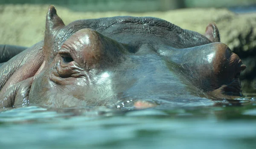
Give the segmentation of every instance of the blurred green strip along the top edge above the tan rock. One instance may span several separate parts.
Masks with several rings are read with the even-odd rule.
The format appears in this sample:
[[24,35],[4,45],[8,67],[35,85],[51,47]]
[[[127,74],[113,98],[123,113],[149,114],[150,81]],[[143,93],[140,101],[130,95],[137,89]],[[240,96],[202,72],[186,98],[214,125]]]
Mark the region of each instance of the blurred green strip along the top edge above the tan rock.
[[54,4],[74,11],[166,11],[186,7],[230,7],[256,0],[0,0],[0,4]]

